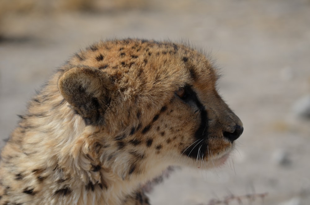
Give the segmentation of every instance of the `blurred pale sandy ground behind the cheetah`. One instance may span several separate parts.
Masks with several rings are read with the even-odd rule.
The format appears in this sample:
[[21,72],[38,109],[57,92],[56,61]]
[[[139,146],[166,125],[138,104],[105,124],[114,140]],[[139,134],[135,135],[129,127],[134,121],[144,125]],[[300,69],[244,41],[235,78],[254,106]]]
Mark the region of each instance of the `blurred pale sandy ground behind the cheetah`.
[[1,0],[0,137],[76,50],[126,37],[210,53],[245,129],[227,165],[176,170],[152,204],[310,204],[309,0]]

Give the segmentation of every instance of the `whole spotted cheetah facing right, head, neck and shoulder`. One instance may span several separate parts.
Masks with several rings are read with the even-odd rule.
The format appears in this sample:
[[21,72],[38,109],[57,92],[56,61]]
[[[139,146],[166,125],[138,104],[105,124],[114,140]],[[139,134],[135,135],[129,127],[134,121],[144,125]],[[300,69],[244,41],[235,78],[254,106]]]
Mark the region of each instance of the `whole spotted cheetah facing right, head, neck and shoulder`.
[[225,162],[241,120],[187,45],[107,40],[80,50],[29,102],[1,152],[0,204],[149,204],[169,166]]

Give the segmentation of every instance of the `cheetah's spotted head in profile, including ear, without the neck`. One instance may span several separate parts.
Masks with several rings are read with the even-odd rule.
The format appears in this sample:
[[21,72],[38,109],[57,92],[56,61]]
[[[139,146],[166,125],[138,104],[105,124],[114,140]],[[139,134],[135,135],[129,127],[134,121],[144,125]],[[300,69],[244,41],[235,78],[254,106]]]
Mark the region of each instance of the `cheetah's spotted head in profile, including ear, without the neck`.
[[59,90],[92,128],[85,152],[126,178],[223,164],[243,131],[205,55],[171,42],[105,41],[64,66]]

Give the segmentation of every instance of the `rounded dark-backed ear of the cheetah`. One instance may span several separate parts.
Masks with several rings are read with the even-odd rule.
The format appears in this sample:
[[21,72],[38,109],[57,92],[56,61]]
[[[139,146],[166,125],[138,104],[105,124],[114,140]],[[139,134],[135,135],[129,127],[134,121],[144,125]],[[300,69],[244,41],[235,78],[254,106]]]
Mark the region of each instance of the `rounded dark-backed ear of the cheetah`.
[[113,82],[106,72],[74,67],[60,77],[58,88],[86,124],[104,123],[104,113],[111,101],[113,89]]

